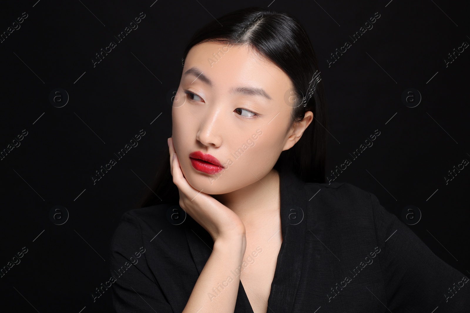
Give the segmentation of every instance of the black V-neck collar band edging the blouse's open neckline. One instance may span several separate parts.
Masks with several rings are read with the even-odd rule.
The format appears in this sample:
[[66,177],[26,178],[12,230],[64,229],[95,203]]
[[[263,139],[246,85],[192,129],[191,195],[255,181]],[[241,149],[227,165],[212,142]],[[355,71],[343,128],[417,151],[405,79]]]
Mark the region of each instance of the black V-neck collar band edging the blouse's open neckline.
[[[281,168],[279,170],[279,185],[283,240],[277,256],[267,306],[268,312],[276,312],[274,308],[282,308],[282,312],[291,312],[304,259],[307,201],[304,189],[305,183],[290,169]],[[191,216],[188,215],[187,218],[189,221],[187,227],[185,227],[186,237],[196,270],[200,275],[211,255],[214,242],[211,235]],[[237,303],[242,303],[244,307],[235,305],[235,313],[253,313],[241,281],[238,288]]]

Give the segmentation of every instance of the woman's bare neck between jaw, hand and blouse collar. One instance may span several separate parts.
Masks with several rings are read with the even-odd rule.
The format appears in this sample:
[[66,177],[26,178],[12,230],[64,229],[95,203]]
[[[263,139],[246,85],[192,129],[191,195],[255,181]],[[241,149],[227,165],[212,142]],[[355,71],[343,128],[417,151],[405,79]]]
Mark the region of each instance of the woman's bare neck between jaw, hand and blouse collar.
[[266,176],[238,190],[211,195],[234,211],[245,226],[266,220],[265,214],[280,210],[279,173],[274,168]]

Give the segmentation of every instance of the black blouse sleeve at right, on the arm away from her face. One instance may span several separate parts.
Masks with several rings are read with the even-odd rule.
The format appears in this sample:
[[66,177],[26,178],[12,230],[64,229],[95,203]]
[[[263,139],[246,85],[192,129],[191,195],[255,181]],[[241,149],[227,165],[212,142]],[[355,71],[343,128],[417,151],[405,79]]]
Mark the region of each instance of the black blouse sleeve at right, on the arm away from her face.
[[[470,282],[370,194],[388,310],[470,312]],[[388,311],[386,311],[388,312]]]

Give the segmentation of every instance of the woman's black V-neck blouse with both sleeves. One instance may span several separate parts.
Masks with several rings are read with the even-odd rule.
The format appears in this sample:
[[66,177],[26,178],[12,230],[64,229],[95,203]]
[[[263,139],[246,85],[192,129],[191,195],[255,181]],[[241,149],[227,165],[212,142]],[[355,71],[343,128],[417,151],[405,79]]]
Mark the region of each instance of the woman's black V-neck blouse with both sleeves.
[[[469,279],[372,193],[279,174],[283,241],[267,312],[470,312]],[[212,247],[179,206],[126,212],[110,244],[114,308],[182,312]],[[246,312],[253,310],[240,281],[235,313]]]

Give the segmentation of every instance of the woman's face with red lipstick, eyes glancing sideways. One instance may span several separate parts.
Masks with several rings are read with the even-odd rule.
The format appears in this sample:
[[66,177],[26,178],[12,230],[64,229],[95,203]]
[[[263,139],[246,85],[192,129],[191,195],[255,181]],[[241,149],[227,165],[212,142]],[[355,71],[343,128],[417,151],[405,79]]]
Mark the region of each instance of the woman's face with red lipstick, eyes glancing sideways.
[[[247,46],[194,46],[172,107],[173,145],[188,183],[224,194],[266,176],[312,120],[286,134],[290,89],[289,76]],[[194,152],[210,153],[223,169],[198,161],[197,153],[190,158]]]

